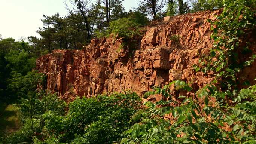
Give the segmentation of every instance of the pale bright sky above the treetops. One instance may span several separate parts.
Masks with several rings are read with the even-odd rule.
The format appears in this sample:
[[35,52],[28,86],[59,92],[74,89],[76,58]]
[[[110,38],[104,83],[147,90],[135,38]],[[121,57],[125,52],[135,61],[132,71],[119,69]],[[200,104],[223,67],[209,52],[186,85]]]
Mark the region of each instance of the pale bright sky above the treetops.
[[[43,27],[40,19],[44,15],[54,15],[59,12],[65,16],[64,0],[0,0],[0,34],[3,38],[12,37],[19,40],[21,37],[37,36],[38,27]],[[67,0],[68,1],[68,0]],[[137,0],[125,0],[125,11],[137,7]]]

